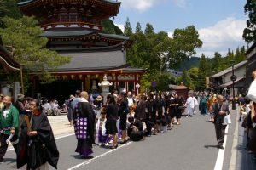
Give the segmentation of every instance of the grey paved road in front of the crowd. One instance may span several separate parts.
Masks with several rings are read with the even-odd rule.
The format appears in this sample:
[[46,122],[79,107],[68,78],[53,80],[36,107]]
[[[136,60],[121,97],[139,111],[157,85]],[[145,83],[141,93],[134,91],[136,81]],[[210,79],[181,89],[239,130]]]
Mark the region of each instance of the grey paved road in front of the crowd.
[[[183,117],[182,124],[176,125],[172,131],[146,138],[141,142],[129,142],[119,144],[117,150],[94,147],[94,158],[82,160],[74,152],[76,139],[72,129],[67,127],[66,116],[58,120],[55,117],[50,120],[54,131],[58,149],[60,150],[60,161],[58,169],[90,169],[90,170],[119,170],[119,169],[147,169],[147,170],[206,170],[214,169],[219,150],[216,148],[214,126],[208,122],[208,117],[199,116]],[[64,118],[63,118],[64,117]],[[230,169],[230,161],[236,153],[233,139],[236,133],[236,113],[232,112],[233,123],[229,126],[227,133],[227,144],[224,150],[223,169]],[[49,117],[51,119],[51,117]],[[54,122],[55,120],[55,122]],[[65,123],[63,123],[65,122]],[[55,123],[55,124],[54,124]],[[63,127],[58,127],[63,126]],[[62,131],[67,130],[65,137]],[[61,138],[61,136],[64,136]],[[221,163],[221,162],[220,162]],[[219,162],[218,162],[219,164]],[[232,162],[231,162],[232,164]],[[15,152],[9,150],[5,156],[5,163],[0,169],[15,169]],[[24,168],[26,169],[26,168]],[[50,169],[53,169],[50,167]],[[236,169],[236,168],[234,168]]]

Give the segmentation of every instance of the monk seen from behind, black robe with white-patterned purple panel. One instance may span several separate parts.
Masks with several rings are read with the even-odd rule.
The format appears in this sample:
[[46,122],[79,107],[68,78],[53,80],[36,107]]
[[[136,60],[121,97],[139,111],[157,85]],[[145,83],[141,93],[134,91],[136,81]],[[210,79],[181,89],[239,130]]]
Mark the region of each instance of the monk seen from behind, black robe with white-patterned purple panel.
[[96,115],[88,102],[87,92],[81,92],[81,99],[75,105],[73,120],[78,145],[76,152],[81,158],[92,158],[92,144],[96,137]]

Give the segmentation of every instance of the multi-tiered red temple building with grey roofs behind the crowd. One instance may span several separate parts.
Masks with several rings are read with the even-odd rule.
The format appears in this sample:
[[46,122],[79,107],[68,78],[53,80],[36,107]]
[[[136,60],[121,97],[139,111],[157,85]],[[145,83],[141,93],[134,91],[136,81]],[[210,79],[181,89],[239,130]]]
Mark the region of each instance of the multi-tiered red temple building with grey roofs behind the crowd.
[[103,76],[113,82],[110,90],[136,91],[136,84],[146,71],[126,64],[129,37],[102,33],[101,22],[119,13],[120,2],[112,0],[27,0],[18,3],[20,10],[34,15],[48,38],[47,48],[71,62],[52,71],[58,80],[42,85],[32,74],[32,92],[42,96],[74,94],[75,90],[100,93]]

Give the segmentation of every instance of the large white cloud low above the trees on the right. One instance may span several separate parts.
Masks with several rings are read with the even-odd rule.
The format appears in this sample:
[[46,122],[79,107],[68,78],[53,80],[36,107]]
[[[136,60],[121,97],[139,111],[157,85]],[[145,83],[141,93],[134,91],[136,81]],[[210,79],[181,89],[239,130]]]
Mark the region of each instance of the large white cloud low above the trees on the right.
[[235,51],[237,47],[245,45],[242,39],[242,31],[245,27],[246,20],[229,17],[218,21],[214,26],[199,29],[203,46],[197,50],[197,56],[201,57],[203,53],[212,58],[217,51],[224,56],[229,48]]

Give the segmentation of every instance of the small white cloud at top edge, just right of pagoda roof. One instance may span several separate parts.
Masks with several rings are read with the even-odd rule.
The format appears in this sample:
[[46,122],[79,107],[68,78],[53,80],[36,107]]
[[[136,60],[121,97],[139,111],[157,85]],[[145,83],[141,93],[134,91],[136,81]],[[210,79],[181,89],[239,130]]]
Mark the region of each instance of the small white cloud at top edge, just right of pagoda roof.
[[121,0],[122,4],[121,7],[123,8],[135,8],[139,12],[143,12],[148,8],[151,8],[156,3],[161,3],[166,0]]

